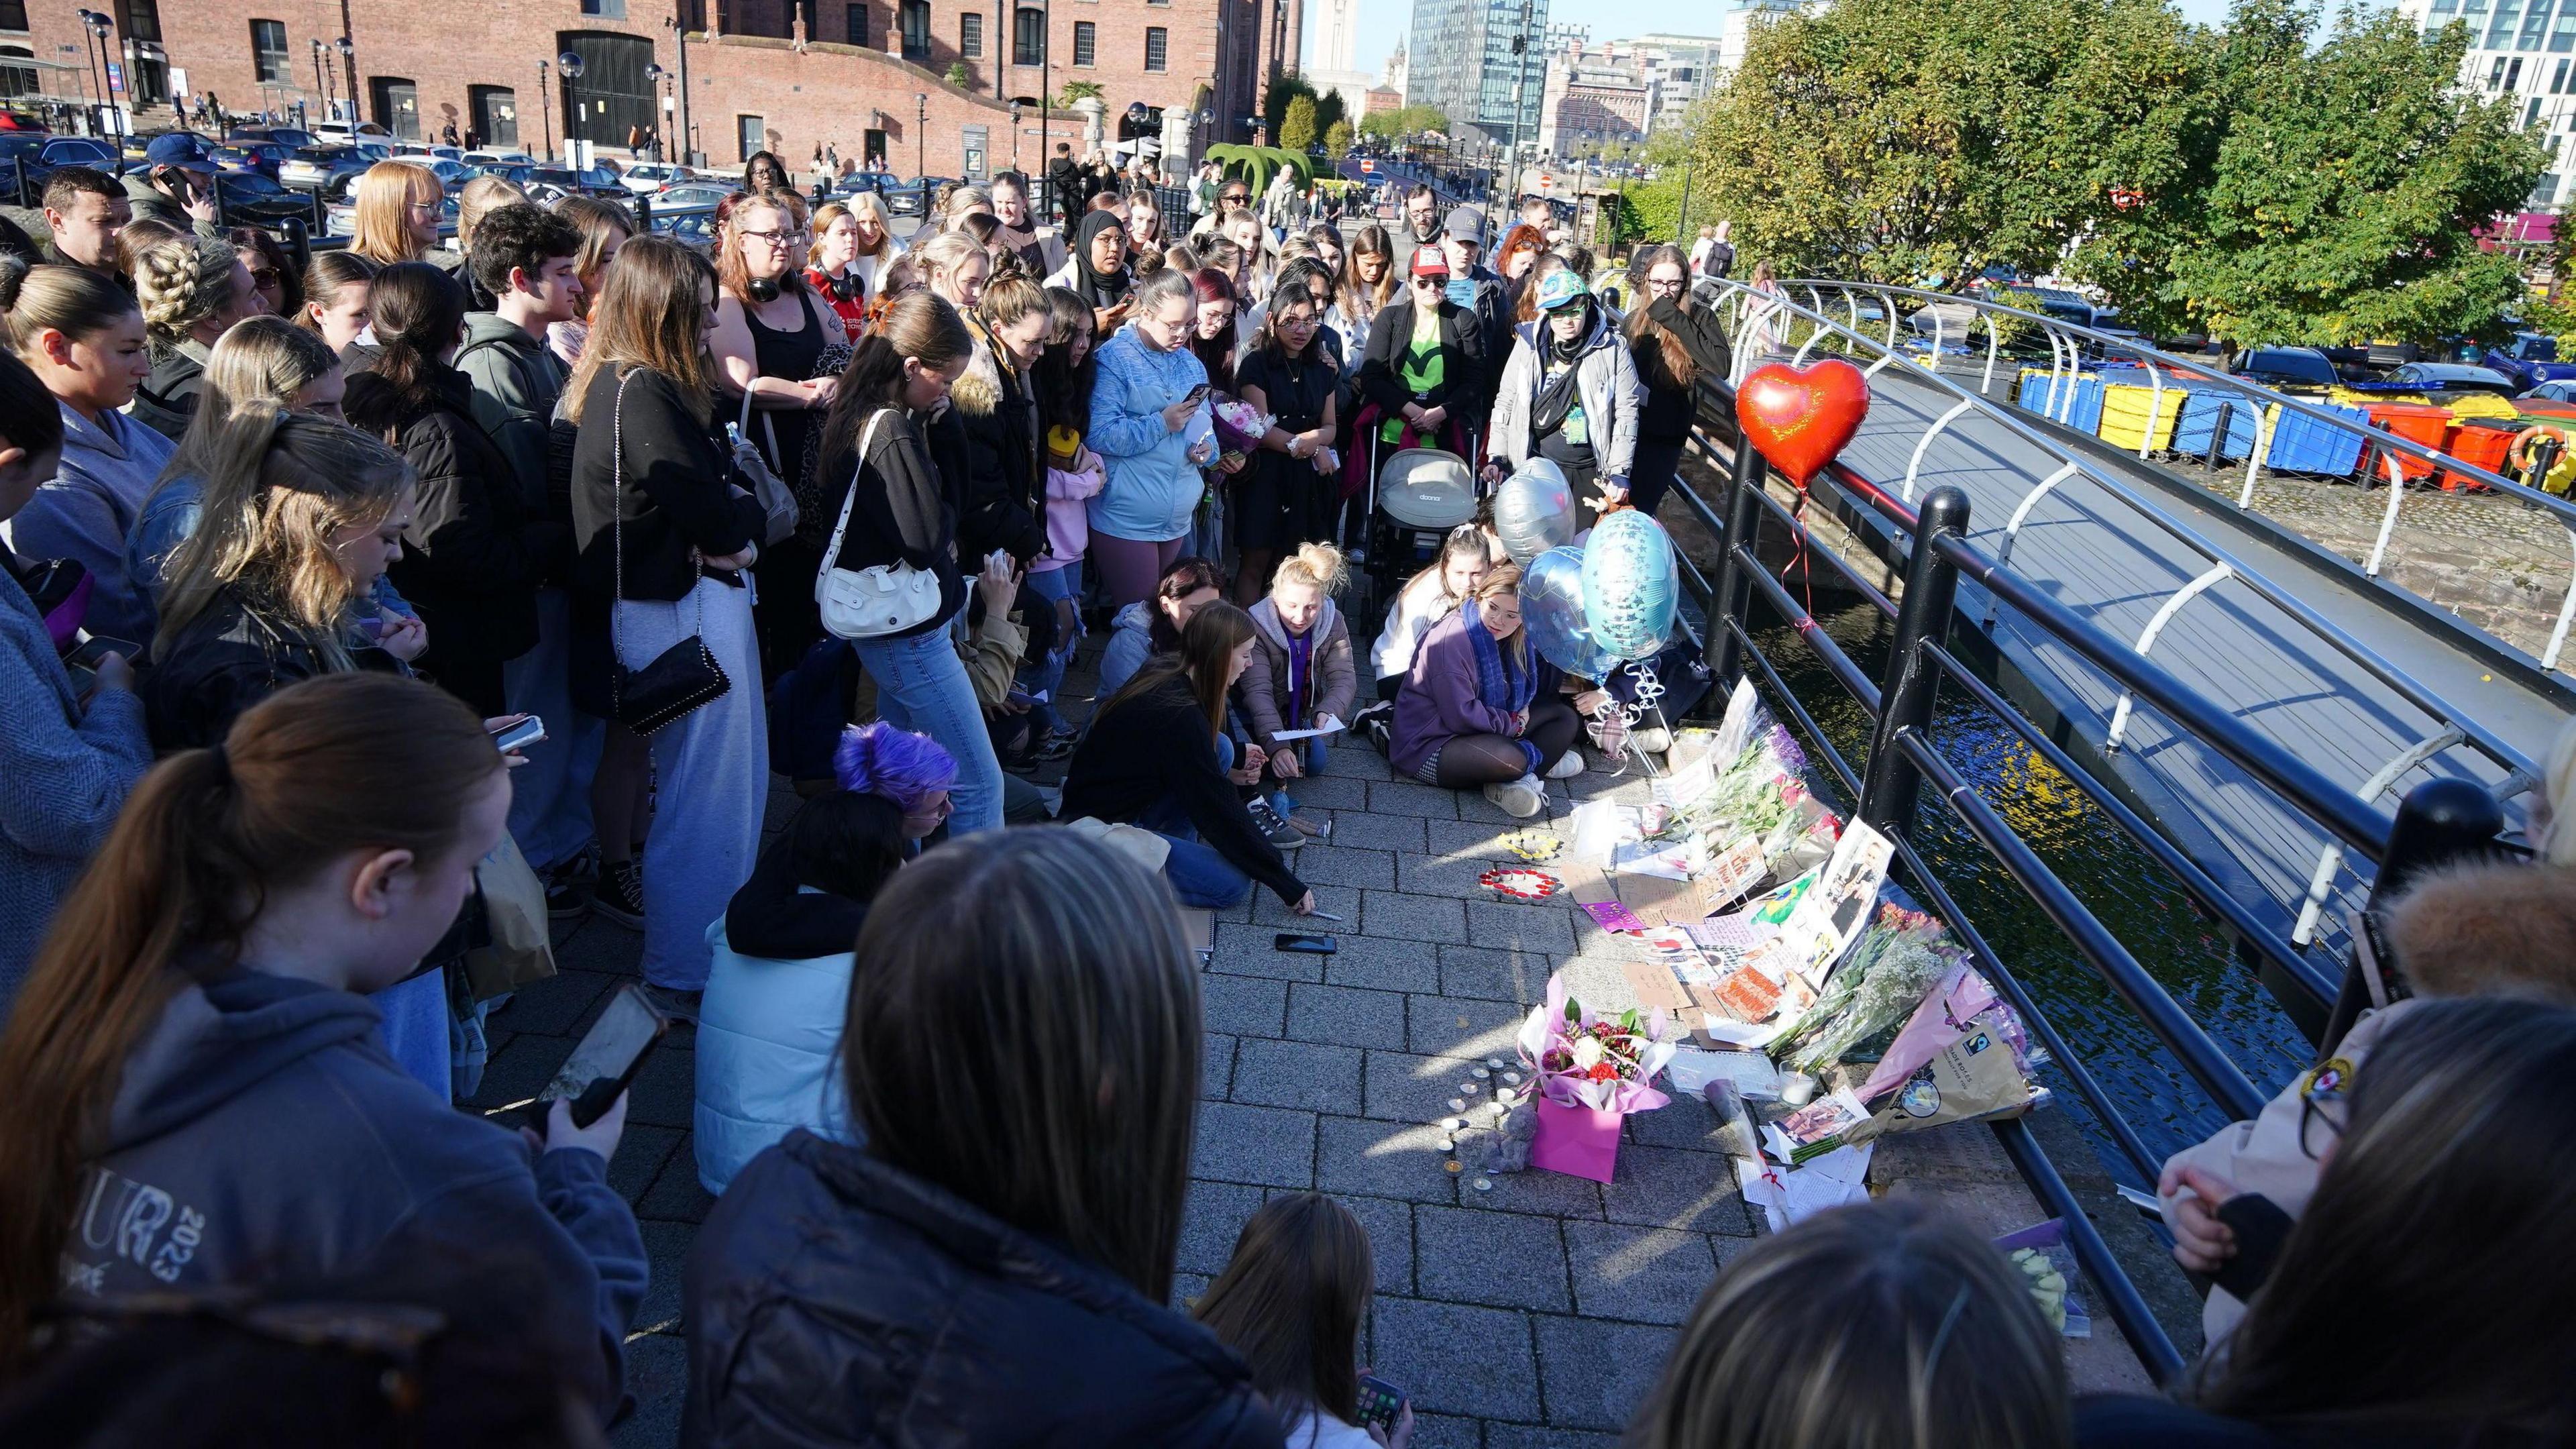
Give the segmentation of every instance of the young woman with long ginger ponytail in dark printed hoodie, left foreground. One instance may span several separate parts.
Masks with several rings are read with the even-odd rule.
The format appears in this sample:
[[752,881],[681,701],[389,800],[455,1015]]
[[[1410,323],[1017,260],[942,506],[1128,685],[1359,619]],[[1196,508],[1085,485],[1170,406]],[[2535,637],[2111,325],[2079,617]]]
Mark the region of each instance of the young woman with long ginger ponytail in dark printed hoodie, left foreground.
[[451,1111],[366,998],[448,931],[507,810],[474,712],[389,676],[286,688],[144,776],[0,1031],[0,1382],[64,1294],[507,1243],[544,1341],[618,1405],[647,1281],[608,1186],[623,1098],[544,1137]]

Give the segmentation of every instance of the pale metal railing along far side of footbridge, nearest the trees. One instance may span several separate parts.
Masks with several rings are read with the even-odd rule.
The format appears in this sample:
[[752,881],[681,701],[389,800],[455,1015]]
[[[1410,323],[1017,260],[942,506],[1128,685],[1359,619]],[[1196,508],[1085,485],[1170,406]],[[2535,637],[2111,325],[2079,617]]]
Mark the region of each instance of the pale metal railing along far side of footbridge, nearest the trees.
[[[2257,508],[2257,503],[2254,503],[2254,482],[2257,482],[2257,477],[2259,477],[2259,472],[2264,467],[2264,459],[2269,456],[2269,451],[2272,451],[2272,446],[2277,441],[2275,410],[2277,410],[2277,418],[2303,418],[2303,420],[2316,423],[2321,428],[2334,428],[2339,433],[2360,436],[2365,443],[2370,443],[2370,449],[2375,449],[2375,454],[2365,454],[2365,459],[2375,456],[2385,467],[2385,472],[2388,472],[2388,505],[2380,511],[2378,534],[2375,534],[2375,539],[2370,544],[2367,559],[2362,562],[2362,575],[2370,578],[2370,580],[2378,580],[2383,588],[2393,588],[2393,585],[2388,585],[2383,580],[2383,570],[2388,565],[2388,549],[2391,549],[2391,541],[2396,536],[2401,511],[2406,505],[2406,469],[2398,464],[2398,459],[2414,459],[2416,464],[2429,467],[2432,472],[2424,474],[2424,477],[2452,477],[2452,480],[2476,482],[2476,485],[2483,485],[2483,487],[2488,487],[2488,490],[2494,490],[2494,492],[2499,492],[2504,498],[2512,498],[2512,500],[2517,500],[2517,503],[2522,503],[2527,508],[2537,508],[2537,511],[2548,513],[2561,529],[2566,529],[2568,544],[2571,544],[2571,549],[2576,549],[2576,503],[2571,503],[2566,498],[2555,498],[2550,492],[2530,487],[2527,482],[2522,482],[2517,477],[2506,477],[2506,474],[2483,469],[2478,464],[2463,462],[2463,459],[2458,459],[2452,454],[2445,454],[2439,449],[2427,449],[2424,443],[2419,443],[2414,438],[2403,438],[2398,433],[2391,433],[2391,431],[2385,431],[2385,428],[2380,428],[2375,423],[2349,418],[2349,415],[2336,413],[2331,407],[2318,407],[2316,402],[2308,402],[2308,400],[2300,400],[2300,397],[2290,397],[2285,392],[2275,392],[2269,387],[2262,387],[2257,382],[2246,382],[2246,379],[2241,379],[2236,374],[2221,371],[2215,366],[2208,366],[2208,364],[2200,364],[2200,361],[2192,361],[2192,358],[2164,353],[2159,348],[2146,345],[2138,338],[2125,338],[2125,335],[2105,333],[2105,330],[2097,330],[2097,327],[2084,327],[2084,325],[2076,325],[2076,322],[2066,322],[2061,317],[2048,317],[2043,312],[2025,312],[2020,307],[2007,307],[2002,302],[1986,302],[1981,297],[1958,297],[1958,294],[1947,294],[1947,291],[1924,291],[1919,286],[1891,286],[1891,284],[1875,284],[1875,281],[1824,281],[1824,278],[1814,278],[1814,281],[1801,278],[1801,281],[1788,281],[1783,286],[1790,289],[1793,294],[1795,291],[1806,291],[1816,302],[1819,312],[1826,309],[1824,307],[1824,294],[1829,294],[1829,291],[1837,294],[1837,297],[1842,297],[1850,307],[1857,307],[1860,297],[1875,299],[1880,304],[1883,315],[1886,315],[1886,322],[1888,322],[1888,348],[1899,348],[1899,343],[1896,343],[1899,309],[1906,302],[1917,304],[1919,312],[1929,312],[1929,317],[1932,317],[1932,338],[1929,338],[1929,348],[1932,348],[1932,358],[1929,361],[1932,361],[1932,366],[1927,371],[1937,371],[1940,358],[1947,351],[1947,317],[1942,315],[1942,309],[1965,307],[1971,312],[1971,325],[1963,330],[1963,335],[1958,338],[1958,343],[1965,345],[1965,348],[1971,348],[1971,353],[1973,353],[1973,320],[1984,320],[1986,322],[1986,371],[1984,371],[1984,376],[1978,382],[1978,392],[1981,394],[1991,392],[1991,387],[1994,387],[1994,366],[1996,366],[1996,356],[2002,351],[1999,348],[1999,325],[2009,322],[2017,330],[2020,327],[2035,327],[2043,335],[2043,340],[2048,343],[2048,392],[2043,397],[2040,413],[2045,418],[2056,420],[2056,423],[2066,423],[2069,413],[2074,410],[2074,402],[2076,402],[2076,387],[2074,384],[2076,384],[2076,374],[2081,371],[2081,364],[2084,364],[2087,356],[2097,356],[2097,358],[2099,356],[2123,356],[2123,358],[2138,361],[2138,364],[2146,366],[2146,374],[2148,374],[2148,415],[2146,415],[2148,423],[2146,423],[2143,436],[2138,441],[2138,459],[2141,462],[2148,459],[2148,454],[2154,449],[2156,431],[2164,425],[2164,418],[2166,418],[2166,413],[2164,413],[2164,392],[2166,392],[2164,374],[2166,371],[2190,376],[2195,382],[2195,387],[2218,387],[2218,389],[2226,389],[2228,394],[2241,397],[2249,405],[2251,420],[2254,420],[2254,441],[2251,441],[2251,449],[2246,451],[2244,485],[2236,492],[2236,508],[2244,511],[2244,513],[2257,513],[2257,516],[2262,513],[2262,508]],[[1911,320],[1909,320],[1909,325],[1911,325]],[[1922,340],[1922,327],[1914,327],[1914,335]],[[2177,420],[2179,420],[2179,405],[2177,405]],[[2221,418],[2218,428],[2215,428],[2215,438],[2213,438],[2213,454],[2223,446],[2223,441],[2228,436],[2228,428],[2231,428],[2231,420]],[[2367,474],[2365,474],[2365,482],[2367,482]],[[2298,531],[2293,523],[2282,523],[2282,526],[2290,529],[2293,534]],[[2537,660],[2543,670],[2561,668],[2561,660],[2566,657],[2566,645],[2568,645],[2571,627],[2576,627],[2576,567],[2571,567],[2568,588],[2561,596],[2558,616],[2555,616],[2555,621],[2550,627],[2550,639],[2543,647],[2540,660]],[[2512,647],[2512,645],[2504,645],[2504,647]]]

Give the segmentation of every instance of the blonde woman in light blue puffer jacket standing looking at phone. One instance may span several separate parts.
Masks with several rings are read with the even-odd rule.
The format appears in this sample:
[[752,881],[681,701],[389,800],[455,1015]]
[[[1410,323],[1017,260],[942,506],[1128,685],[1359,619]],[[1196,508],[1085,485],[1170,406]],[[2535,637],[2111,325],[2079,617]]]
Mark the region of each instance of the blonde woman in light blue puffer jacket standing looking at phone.
[[1090,446],[1108,485],[1090,500],[1092,559],[1113,608],[1141,603],[1180,557],[1216,459],[1208,369],[1190,353],[1198,289],[1159,271],[1136,291],[1136,322],[1100,348]]

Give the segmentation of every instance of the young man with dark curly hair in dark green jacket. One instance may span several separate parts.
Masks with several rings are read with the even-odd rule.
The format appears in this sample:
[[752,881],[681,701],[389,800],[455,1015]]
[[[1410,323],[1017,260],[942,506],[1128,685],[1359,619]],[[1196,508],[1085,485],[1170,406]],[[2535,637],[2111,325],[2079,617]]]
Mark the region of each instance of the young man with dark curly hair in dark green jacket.
[[[582,235],[572,222],[526,201],[487,211],[466,250],[466,266],[495,307],[466,315],[456,366],[474,384],[474,420],[510,459],[528,518],[572,518],[572,503],[556,495],[551,467],[554,405],[564,394],[567,371],[546,348],[546,327],[582,315],[582,278],[574,271],[580,250]],[[569,459],[572,425],[562,428]],[[564,485],[569,487],[569,474]],[[536,647],[502,665],[510,709],[546,722],[546,737],[526,748],[528,766],[510,779],[510,835],[546,879],[546,908],[556,920],[592,905],[577,877],[590,843],[590,773],[603,737],[600,719],[572,709],[569,575],[569,557],[549,570],[536,590]]]

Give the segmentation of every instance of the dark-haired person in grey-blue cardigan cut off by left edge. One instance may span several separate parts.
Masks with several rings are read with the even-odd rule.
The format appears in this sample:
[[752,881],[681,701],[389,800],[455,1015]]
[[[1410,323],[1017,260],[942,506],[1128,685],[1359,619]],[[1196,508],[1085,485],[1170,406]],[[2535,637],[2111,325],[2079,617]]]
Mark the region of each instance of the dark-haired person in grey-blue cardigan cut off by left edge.
[[[0,353],[0,523],[26,508],[62,451],[44,384]],[[93,670],[88,699],[62,668],[46,614],[0,549],[0,1016],[36,957],[54,902],[108,838],[152,763],[144,706],[124,657]],[[67,629],[67,624],[64,624]]]

